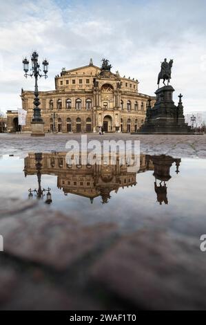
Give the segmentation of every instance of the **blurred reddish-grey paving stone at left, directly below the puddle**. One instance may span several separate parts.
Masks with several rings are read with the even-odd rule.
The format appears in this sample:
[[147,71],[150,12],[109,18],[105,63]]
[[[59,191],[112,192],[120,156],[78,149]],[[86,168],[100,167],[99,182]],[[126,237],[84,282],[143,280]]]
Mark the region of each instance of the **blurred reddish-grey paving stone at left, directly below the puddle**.
[[64,270],[85,254],[99,250],[115,232],[115,225],[83,226],[59,212],[39,210],[39,206],[0,219],[7,254],[56,270]]

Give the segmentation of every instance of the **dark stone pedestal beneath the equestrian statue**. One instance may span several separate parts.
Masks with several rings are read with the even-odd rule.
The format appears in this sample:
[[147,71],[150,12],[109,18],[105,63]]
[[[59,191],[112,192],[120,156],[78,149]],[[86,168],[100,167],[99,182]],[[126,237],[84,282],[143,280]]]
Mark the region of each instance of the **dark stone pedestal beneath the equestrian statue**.
[[174,88],[163,86],[157,89],[154,107],[148,107],[145,123],[138,133],[158,134],[187,134],[192,133],[191,127],[185,123],[183,104],[180,100],[178,106],[173,101]]

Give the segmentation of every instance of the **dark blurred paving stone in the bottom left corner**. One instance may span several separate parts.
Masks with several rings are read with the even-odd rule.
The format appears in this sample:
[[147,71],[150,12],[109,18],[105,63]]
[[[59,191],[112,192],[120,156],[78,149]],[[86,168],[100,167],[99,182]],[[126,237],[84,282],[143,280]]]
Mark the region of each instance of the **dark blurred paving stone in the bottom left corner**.
[[[48,281],[48,276],[39,270],[34,272],[12,269],[4,266],[0,268],[0,310],[99,310],[101,305],[83,293],[75,293],[69,288]],[[17,261],[14,263],[17,268]],[[17,268],[18,269],[18,268]]]

